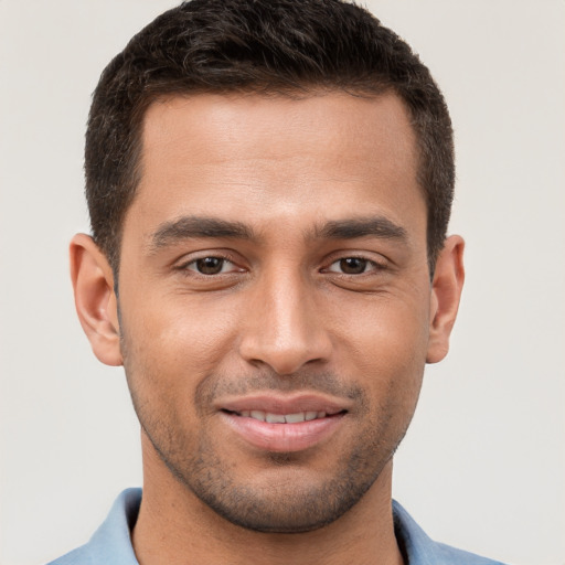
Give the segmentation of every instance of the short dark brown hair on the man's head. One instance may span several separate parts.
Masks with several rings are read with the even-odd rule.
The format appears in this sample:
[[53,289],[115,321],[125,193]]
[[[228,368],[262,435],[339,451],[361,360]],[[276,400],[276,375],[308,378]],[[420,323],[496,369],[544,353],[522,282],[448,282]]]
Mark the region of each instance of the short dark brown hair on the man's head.
[[158,17],[105,68],[86,132],[93,237],[117,274],[124,217],[139,180],[141,126],[164,95],[338,89],[394,92],[417,136],[433,271],[455,183],[449,113],[428,68],[366,10],[341,0],[192,0]]

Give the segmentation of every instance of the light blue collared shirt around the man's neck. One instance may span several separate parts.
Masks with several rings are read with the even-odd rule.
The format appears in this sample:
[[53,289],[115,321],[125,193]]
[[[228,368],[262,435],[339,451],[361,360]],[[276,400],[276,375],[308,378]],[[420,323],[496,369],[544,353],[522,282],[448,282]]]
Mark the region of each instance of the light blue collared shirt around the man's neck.
[[[127,489],[114,502],[108,518],[85,545],[49,565],[139,565],[131,547],[141,489]],[[502,565],[430,540],[401,504],[393,501],[396,540],[406,565]]]

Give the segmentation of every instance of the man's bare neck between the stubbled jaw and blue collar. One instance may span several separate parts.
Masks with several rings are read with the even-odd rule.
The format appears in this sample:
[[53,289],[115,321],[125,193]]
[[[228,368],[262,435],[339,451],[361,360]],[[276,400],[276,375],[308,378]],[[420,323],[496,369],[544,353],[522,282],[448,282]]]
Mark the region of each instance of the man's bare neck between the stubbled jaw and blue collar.
[[[145,446],[146,447],[146,446]],[[271,534],[234,525],[174,479],[143,448],[143,498],[132,532],[140,565],[402,565],[392,515],[392,461],[351,510],[307,533]]]

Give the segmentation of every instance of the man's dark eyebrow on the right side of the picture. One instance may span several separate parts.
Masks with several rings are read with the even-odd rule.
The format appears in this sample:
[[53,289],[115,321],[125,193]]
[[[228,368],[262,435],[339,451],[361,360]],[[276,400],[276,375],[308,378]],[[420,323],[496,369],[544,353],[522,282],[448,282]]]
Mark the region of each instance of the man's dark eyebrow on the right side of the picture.
[[404,227],[383,216],[332,220],[315,232],[316,238],[354,239],[367,236],[383,239],[407,239]]

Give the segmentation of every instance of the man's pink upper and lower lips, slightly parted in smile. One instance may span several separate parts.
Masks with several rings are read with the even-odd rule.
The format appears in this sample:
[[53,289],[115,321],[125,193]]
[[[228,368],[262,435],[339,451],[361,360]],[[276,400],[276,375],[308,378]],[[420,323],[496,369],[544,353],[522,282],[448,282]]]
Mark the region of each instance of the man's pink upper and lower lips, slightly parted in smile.
[[[349,402],[317,394],[255,395],[225,399],[218,404],[218,412],[237,436],[252,447],[264,451],[296,452],[312,448],[335,434],[343,424],[348,406]],[[273,414],[324,412],[327,416],[294,424],[270,424],[242,416],[245,411]]]

